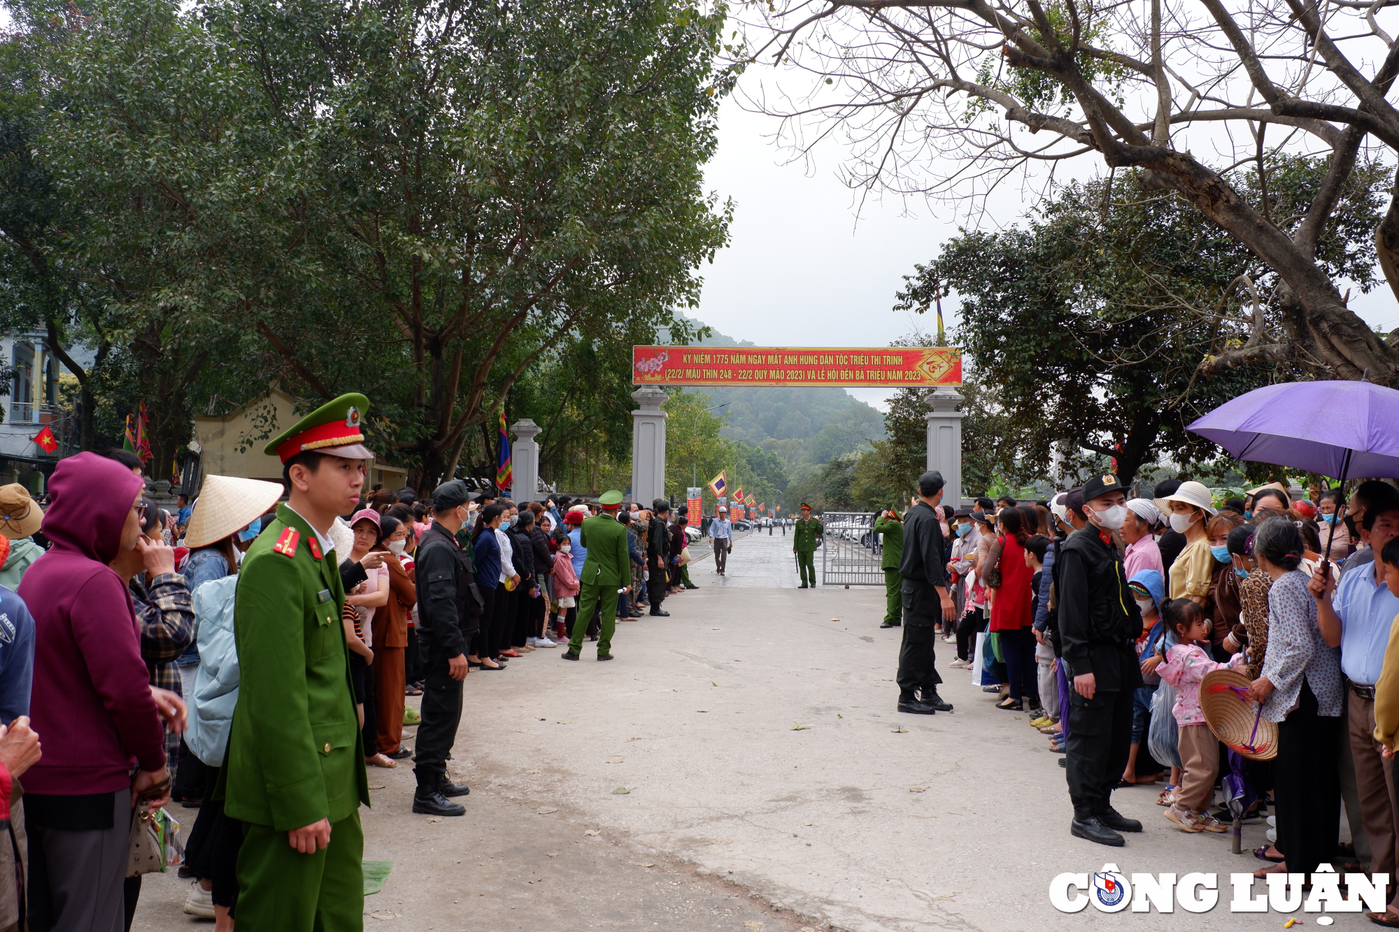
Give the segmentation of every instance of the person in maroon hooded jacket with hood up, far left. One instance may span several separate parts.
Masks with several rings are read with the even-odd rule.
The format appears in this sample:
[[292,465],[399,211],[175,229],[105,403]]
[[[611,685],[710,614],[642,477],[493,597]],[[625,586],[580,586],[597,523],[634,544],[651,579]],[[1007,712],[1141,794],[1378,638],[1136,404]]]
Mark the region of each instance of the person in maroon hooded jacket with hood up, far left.
[[140,630],[108,567],[139,546],[141,488],[97,453],[62,460],[45,514],[53,547],[20,584],[35,621],[31,718],[46,739],[24,778],[34,932],[120,932],[133,800],[169,796]]

